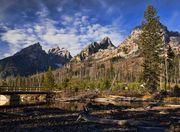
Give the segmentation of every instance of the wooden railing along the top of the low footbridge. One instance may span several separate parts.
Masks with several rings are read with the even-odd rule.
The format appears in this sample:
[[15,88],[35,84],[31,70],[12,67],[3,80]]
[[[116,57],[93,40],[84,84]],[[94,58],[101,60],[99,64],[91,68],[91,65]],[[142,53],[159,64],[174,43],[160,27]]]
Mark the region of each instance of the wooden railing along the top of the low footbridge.
[[44,87],[13,87],[0,86],[0,92],[47,92],[50,91]]

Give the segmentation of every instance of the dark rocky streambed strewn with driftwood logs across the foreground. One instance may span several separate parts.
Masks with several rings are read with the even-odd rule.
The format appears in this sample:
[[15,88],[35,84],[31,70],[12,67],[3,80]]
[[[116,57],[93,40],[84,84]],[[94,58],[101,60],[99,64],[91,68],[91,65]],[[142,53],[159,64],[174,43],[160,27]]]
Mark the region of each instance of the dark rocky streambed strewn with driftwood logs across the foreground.
[[179,105],[137,100],[135,103],[129,100],[130,98],[122,101],[114,96],[88,98],[83,95],[79,98],[79,95],[75,95],[69,100],[66,99],[68,98],[63,97],[59,101],[56,99],[39,106],[1,109],[0,130],[63,132],[179,132],[180,130]]

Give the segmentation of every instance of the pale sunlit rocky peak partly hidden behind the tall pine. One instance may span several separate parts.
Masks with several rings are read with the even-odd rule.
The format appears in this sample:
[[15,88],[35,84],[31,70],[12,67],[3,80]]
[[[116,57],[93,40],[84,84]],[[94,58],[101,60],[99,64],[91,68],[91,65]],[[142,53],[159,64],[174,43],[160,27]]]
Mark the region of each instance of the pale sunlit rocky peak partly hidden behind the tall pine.
[[[180,54],[180,33],[168,31],[167,27],[161,25],[165,43],[169,44],[176,54]],[[119,52],[123,52],[128,57],[139,56],[139,37],[142,33],[141,27],[136,27],[131,34],[117,47]]]

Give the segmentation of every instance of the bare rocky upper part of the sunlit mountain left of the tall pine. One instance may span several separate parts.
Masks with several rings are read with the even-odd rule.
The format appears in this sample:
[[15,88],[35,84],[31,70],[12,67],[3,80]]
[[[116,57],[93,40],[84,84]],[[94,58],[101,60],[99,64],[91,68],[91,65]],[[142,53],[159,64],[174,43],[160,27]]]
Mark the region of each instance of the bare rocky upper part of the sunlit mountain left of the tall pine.
[[100,43],[93,42],[85,47],[80,54],[71,59],[71,62],[82,62],[86,60],[107,61],[138,57],[138,41],[141,29],[134,29],[118,47],[115,47],[110,38],[105,37]]

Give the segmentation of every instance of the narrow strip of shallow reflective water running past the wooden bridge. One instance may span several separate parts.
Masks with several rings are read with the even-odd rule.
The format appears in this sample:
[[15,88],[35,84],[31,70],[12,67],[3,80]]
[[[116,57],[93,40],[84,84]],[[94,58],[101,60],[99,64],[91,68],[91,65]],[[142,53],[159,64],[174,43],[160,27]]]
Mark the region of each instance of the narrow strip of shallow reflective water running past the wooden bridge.
[[[0,100],[0,102],[2,102]],[[44,100],[30,100],[30,101],[21,101],[17,103],[6,102],[4,105],[0,106],[0,112],[19,112],[24,108],[57,108],[65,111],[82,111],[84,107],[88,107],[91,110],[110,110],[110,109],[119,109],[119,108],[138,108],[146,106],[149,103],[138,103],[138,102],[124,102],[121,101],[118,106],[112,104],[96,104],[91,102],[81,102],[81,101],[71,101],[71,102],[61,102],[61,101],[51,101],[47,102]]]

